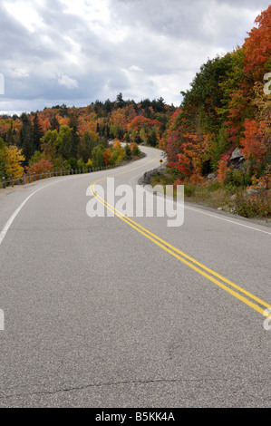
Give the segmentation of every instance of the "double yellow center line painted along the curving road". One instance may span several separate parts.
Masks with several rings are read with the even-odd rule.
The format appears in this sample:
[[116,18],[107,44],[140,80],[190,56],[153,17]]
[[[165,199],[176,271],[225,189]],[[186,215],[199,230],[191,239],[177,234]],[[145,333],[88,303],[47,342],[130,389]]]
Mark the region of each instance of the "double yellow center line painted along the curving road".
[[[151,161],[156,160],[157,157],[153,160],[150,160],[149,163]],[[148,164],[148,163],[145,163],[144,166],[146,164]],[[140,167],[143,167],[143,166],[140,166]],[[137,168],[134,168],[134,169],[140,169],[140,167],[137,167]],[[134,169],[129,169],[128,171],[131,171],[131,170],[134,170]],[[128,171],[122,171],[121,173],[117,173],[113,176],[119,176],[123,173],[127,173]],[[182,262],[186,266],[189,266],[191,269],[198,272],[198,274],[200,274],[201,276],[205,276],[206,278],[208,278],[209,281],[216,284],[220,288],[223,288],[223,290],[227,291],[227,293],[235,296],[238,300],[240,300],[243,303],[245,303],[246,305],[250,306],[252,309],[254,309],[259,314],[271,317],[271,315],[266,314],[266,309],[271,310],[271,305],[267,304],[265,301],[261,300],[259,297],[256,297],[256,295],[249,293],[244,288],[237,286],[237,284],[228,280],[224,276],[221,276],[220,274],[218,274],[218,272],[215,272],[212,269],[210,269],[209,267],[204,266],[203,264],[198,262],[198,260],[194,259],[193,257],[190,257],[189,255],[187,255],[183,251],[179,250],[179,248],[172,246],[171,244],[169,244],[164,239],[162,239],[162,238],[158,237],[157,235],[153,234],[152,232],[150,232],[148,229],[143,228],[142,226],[140,226],[140,224],[138,224],[137,222],[135,222],[131,218],[128,218],[126,215],[123,215],[119,210],[117,210],[116,208],[111,206],[109,203],[107,203],[107,201],[102,199],[97,194],[97,192],[95,191],[94,186],[97,182],[99,182],[103,179],[107,179],[107,178],[108,177],[106,176],[102,179],[97,179],[97,180],[93,181],[92,184],[91,184],[92,195],[95,198],[97,198],[97,200],[99,202],[101,202],[102,205],[105,208],[108,208],[109,210],[111,210],[111,212],[113,212],[114,215],[117,218],[120,218],[121,220],[123,220],[123,222],[127,223],[131,228],[138,231],[144,237],[150,239],[150,241],[152,243],[156,244],[157,246],[159,246],[160,248],[165,250],[167,253],[169,253],[169,255],[176,257],[180,262]]]

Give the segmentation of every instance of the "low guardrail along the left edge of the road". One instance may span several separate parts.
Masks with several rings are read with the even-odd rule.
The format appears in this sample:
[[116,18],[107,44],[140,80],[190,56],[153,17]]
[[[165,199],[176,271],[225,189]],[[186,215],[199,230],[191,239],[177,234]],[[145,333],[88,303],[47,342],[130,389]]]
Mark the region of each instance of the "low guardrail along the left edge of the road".
[[93,167],[93,168],[84,168],[84,169],[54,169],[38,173],[24,173],[20,178],[14,178],[10,175],[9,179],[3,177],[0,180],[0,189],[5,189],[6,187],[14,187],[15,185],[25,185],[26,183],[35,182],[36,180],[49,179],[55,176],[68,176],[68,175],[77,175],[84,173],[92,173],[93,171],[100,171],[106,169],[114,169],[119,167],[121,164],[114,164],[102,167]]

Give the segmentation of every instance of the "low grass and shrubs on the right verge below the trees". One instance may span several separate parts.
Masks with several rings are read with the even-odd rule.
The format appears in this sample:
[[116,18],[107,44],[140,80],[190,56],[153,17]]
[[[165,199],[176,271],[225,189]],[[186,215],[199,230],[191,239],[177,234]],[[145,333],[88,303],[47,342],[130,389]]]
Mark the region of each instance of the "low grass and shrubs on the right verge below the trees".
[[[153,176],[152,186],[174,185],[176,179],[165,172]],[[175,192],[176,194],[176,192]],[[271,223],[271,191],[260,189],[249,194],[247,188],[234,185],[222,185],[217,180],[206,181],[204,185],[186,183],[184,185],[185,201],[224,210],[244,218],[259,218]]]

